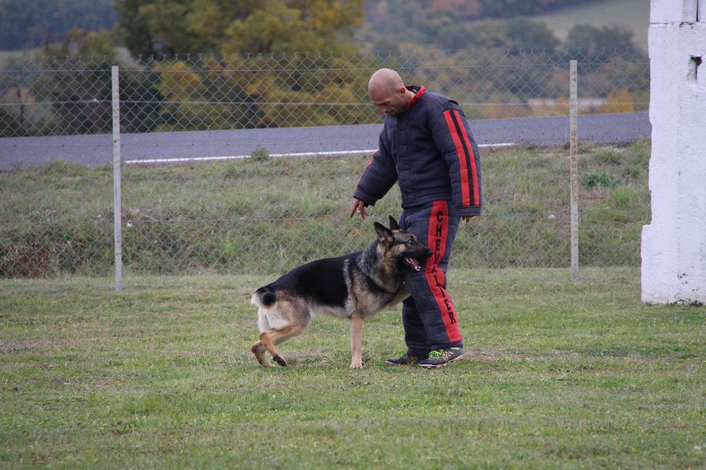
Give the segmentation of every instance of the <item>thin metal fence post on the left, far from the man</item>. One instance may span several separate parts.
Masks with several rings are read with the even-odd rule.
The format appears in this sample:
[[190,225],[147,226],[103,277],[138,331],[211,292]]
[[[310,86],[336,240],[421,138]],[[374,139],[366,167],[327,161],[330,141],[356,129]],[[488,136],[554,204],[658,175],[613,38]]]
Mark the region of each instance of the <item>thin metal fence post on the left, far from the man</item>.
[[115,243],[115,290],[123,290],[123,236],[120,159],[120,88],[118,66],[112,66],[113,89],[113,230]]

